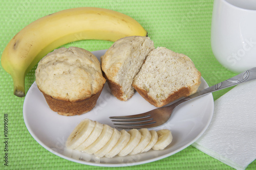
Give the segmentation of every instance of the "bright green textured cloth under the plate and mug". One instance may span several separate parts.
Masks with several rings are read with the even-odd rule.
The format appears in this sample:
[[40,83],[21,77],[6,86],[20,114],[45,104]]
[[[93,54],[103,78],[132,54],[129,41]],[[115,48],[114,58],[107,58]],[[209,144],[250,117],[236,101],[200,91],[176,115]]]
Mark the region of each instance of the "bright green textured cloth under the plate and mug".
[[[101,7],[127,14],[148,31],[155,46],[165,46],[175,52],[189,56],[201,71],[208,85],[214,85],[234,74],[223,68],[215,59],[210,47],[210,26],[213,1],[88,1],[46,0],[13,1],[1,0],[0,52],[9,40],[30,22],[68,8]],[[78,46],[89,51],[109,48],[113,42],[87,40],[65,44]],[[35,68],[26,77],[26,91],[35,80]],[[218,99],[227,92],[215,92]],[[23,119],[24,98],[13,95],[12,79],[0,66],[0,169],[131,169],[131,167],[97,167],[83,165],[60,158],[47,151],[28,132]],[[8,114],[8,167],[4,165],[4,114]],[[247,169],[255,169],[256,161]],[[233,169],[230,166],[188,147],[162,160],[133,166],[134,169]]]

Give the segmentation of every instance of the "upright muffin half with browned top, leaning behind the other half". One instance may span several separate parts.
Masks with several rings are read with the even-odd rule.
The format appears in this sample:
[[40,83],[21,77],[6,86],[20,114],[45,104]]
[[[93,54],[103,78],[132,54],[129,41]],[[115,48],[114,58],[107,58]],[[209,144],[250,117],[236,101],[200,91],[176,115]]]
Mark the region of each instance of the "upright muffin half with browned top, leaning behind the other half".
[[126,101],[133,96],[133,79],[153,49],[149,37],[130,36],[117,40],[101,57],[103,75],[117,99]]

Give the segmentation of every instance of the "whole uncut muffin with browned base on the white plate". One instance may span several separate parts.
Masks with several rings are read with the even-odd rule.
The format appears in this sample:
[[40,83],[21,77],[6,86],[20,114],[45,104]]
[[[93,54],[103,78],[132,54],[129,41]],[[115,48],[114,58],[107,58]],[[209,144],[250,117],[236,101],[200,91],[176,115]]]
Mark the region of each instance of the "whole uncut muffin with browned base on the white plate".
[[35,77],[49,107],[66,116],[92,110],[105,83],[96,56],[78,47],[61,47],[46,55]]

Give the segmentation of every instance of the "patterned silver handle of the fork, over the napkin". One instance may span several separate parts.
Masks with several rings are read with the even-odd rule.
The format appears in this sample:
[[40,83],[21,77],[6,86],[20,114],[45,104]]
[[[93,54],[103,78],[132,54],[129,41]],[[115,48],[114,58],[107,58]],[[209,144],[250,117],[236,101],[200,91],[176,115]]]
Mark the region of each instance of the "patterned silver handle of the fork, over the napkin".
[[253,80],[253,79],[256,79],[256,67],[248,69],[237,76],[234,76],[234,77],[227,79],[223,82],[220,82],[216,85],[213,85],[211,87],[203,89],[202,91],[191,94],[191,95],[187,96],[186,98],[183,98],[182,100],[178,101],[176,106],[180,105],[181,103],[184,103],[186,101],[190,101],[191,99],[198,98],[199,96],[202,96],[202,95],[205,95],[205,94],[208,94],[211,92],[215,92],[218,90],[222,90],[227,87],[235,86],[235,85],[238,85],[238,84],[241,84],[241,83]]

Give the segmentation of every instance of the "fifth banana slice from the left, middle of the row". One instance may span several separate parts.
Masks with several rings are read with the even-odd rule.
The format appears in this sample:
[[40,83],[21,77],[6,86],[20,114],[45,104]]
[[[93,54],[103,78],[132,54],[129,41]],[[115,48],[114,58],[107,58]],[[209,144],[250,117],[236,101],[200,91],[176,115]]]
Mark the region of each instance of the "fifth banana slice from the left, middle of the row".
[[119,140],[117,141],[116,145],[111,149],[109,153],[105,154],[105,157],[112,158],[116,156],[129,142],[131,135],[125,130],[121,130],[121,136]]

